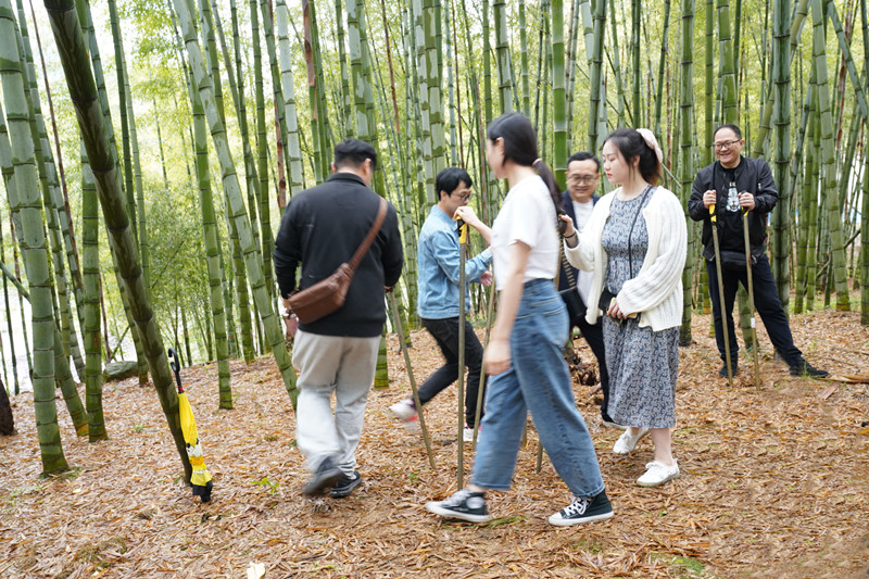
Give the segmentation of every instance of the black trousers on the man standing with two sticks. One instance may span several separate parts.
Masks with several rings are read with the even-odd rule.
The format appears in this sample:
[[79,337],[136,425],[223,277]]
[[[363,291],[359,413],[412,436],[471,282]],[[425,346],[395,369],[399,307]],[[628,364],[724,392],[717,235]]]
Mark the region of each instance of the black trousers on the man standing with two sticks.
[[[709,297],[713,301],[713,317],[715,318],[715,341],[722,361],[727,361],[725,353],[725,332],[721,325],[721,304],[718,297],[718,272],[715,262],[706,261],[706,272],[709,274]],[[736,343],[736,328],[733,326],[733,300],[736,297],[738,285],[748,288],[748,273],[742,269],[721,269],[721,279],[725,285],[725,317],[727,318],[728,336],[730,337],[730,362],[735,367],[739,358],[739,344]],[[764,326],[769,333],[769,340],[779,352],[779,355],[794,366],[803,360],[803,353],[794,345],[791,326],[784,315],[784,309],[779,300],[779,290],[769,266],[766,254],[758,257],[752,266],[752,282],[754,285],[754,307],[757,310]]]

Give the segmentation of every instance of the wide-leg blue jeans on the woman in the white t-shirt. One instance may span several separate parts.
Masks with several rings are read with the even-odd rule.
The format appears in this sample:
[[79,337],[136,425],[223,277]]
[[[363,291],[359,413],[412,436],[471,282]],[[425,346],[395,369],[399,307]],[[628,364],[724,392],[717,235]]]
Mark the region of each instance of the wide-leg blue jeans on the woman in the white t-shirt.
[[576,406],[564,360],[567,310],[551,280],[525,284],[511,335],[511,368],[489,379],[471,482],[509,489],[527,412],[558,476],[575,496],[604,490],[597,455]]

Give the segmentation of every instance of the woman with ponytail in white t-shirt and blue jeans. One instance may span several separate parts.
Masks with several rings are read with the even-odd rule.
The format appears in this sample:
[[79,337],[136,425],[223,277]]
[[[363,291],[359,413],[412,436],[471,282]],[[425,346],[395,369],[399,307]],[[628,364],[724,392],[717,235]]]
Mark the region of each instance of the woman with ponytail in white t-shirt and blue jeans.
[[491,519],[487,490],[508,490],[530,411],[540,441],[574,501],[552,515],[553,525],[606,519],[606,498],[597,456],[574,400],[564,360],[568,320],[553,285],[558,268],[556,211],[561,192],[549,167],[537,159],[530,121],[509,113],[489,125],[487,158],[509,191],[490,230],[469,207],[456,215],[491,242],[499,313],[483,354],[491,375],[470,484],[426,508],[473,523]]

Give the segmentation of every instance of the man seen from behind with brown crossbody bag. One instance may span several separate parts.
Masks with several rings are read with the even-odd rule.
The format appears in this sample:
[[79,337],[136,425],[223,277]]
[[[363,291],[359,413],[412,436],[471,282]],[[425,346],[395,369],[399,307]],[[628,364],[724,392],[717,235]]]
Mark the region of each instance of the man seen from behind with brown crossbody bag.
[[[333,175],[294,196],[287,206],[274,262],[288,311],[300,262],[299,286],[305,289],[349,262],[370,230],[380,204],[380,197],[368,189],[376,164],[370,144],[348,139],[335,148]],[[313,473],[303,491],[307,495],[331,488],[332,496],[347,496],[362,481],[355,450],[386,322],[383,291],[398,282],[403,260],[398,216],[390,204],[344,305],[299,326],[292,355],[300,369],[295,439]]]

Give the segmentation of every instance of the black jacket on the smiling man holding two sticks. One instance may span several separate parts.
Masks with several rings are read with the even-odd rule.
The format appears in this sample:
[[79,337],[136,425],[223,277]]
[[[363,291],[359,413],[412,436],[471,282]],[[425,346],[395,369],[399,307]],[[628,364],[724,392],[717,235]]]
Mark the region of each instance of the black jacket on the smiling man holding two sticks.
[[731,171],[735,177],[736,190],[754,194],[755,207],[748,212],[748,240],[752,254],[760,256],[766,251],[767,216],[779,201],[779,192],[767,162],[763,159],[743,156],[734,169],[726,169],[716,161],[700,169],[694,178],[691,199],[688,201],[688,213],[695,222],[703,222],[703,256],[707,260],[715,256],[709,210],[703,205],[703,193],[710,189],[718,191],[715,213],[718,216],[718,242],[721,250],[745,252],[742,212],[729,212],[726,209]]

